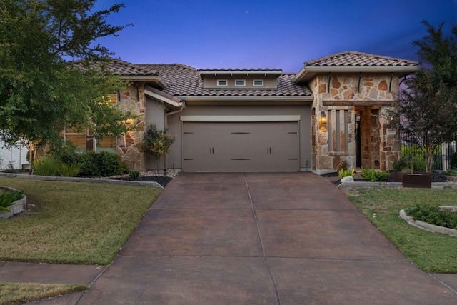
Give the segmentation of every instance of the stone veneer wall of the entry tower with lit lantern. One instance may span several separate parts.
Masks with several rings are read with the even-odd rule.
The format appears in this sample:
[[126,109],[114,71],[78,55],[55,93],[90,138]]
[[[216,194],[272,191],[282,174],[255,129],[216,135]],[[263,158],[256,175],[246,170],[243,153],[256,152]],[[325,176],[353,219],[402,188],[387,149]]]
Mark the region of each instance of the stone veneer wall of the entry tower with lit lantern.
[[[398,76],[364,75],[361,74],[360,91],[358,91],[358,75],[332,74],[329,82],[328,75],[319,75],[311,81],[313,91],[313,113],[311,119],[312,136],[311,154],[313,155],[313,170],[319,174],[334,171],[338,163],[345,159],[351,168],[356,167],[356,111],[362,111],[362,166],[377,169],[392,169],[392,164],[398,159],[400,139],[396,134],[388,134],[393,130],[386,114],[390,107],[383,106],[323,106],[323,101],[396,101],[398,96]],[[328,85],[330,89],[328,90]],[[325,130],[319,129],[321,111],[325,111],[328,124]],[[337,118],[338,116],[338,118]],[[339,120],[339,129],[336,123]],[[347,126],[345,126],[347,124]],[[336,131],[339,130],[339,134]],[[329,132],[330,131],[330,132]],[[348,133],[345,135],[345,133]],[[339,146],[336,148],[336,139]],[[330,146],[329,141],[331,142]],[[347,141],[347,143],[346,143]],[[330,149],[330,151],[329,151]]]

